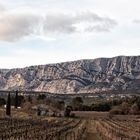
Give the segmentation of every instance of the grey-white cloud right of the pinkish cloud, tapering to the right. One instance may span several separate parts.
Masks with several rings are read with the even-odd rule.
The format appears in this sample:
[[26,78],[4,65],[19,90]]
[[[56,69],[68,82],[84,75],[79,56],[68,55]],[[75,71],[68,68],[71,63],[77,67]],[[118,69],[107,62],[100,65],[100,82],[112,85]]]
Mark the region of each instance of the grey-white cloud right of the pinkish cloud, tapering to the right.
[[106,32],[116,24],[114,19],[101,17],[92,12],[51,13],[46,16],[44,31],[46,33]]

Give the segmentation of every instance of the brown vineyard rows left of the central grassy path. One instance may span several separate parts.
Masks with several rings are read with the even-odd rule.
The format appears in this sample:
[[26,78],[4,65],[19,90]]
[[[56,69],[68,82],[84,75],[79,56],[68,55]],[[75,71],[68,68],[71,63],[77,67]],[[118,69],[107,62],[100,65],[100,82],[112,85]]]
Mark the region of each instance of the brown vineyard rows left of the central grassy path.
[[0,119],[1,140],[82,140],[85,130],[85,121],[78,119]]

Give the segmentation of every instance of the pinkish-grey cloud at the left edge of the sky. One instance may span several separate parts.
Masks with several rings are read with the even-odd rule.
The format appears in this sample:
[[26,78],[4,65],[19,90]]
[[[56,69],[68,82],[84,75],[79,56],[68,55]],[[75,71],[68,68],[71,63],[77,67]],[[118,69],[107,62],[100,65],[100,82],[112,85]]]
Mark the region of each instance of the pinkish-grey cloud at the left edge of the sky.
[[7,15],[0,18],[0,40],[16,41],[35,33],[39,24],[36,15]]

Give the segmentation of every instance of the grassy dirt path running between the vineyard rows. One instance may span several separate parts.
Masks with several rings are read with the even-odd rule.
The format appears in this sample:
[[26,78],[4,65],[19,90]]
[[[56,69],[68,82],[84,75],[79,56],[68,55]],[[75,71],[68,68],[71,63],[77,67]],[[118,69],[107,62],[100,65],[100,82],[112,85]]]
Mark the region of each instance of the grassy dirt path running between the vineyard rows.
[[87,130],[87,140],[101,140],[99,136],[97,135],[97,132],[94,128],[94,122],[89,121],[88,122],[88,130]]

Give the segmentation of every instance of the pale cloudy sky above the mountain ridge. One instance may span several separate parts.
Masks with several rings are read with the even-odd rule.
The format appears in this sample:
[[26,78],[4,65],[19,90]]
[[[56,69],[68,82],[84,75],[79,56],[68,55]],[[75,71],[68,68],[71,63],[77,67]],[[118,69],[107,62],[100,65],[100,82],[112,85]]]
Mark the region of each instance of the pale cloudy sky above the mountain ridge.
[[139,0],[0,0],[0,68],[140,55]]

